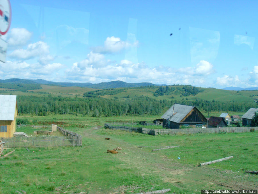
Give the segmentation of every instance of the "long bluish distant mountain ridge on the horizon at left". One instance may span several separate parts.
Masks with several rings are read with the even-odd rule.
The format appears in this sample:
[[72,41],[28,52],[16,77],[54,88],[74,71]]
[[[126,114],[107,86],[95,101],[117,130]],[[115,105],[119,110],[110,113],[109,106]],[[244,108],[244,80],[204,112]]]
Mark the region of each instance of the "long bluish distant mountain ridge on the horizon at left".
[[123,81],[111,81],[111,82],[101,82],[98,84],[92,83],[79,83],[79,82],[52,82],[43,79],[36,80],[28,80],[28,79],[19,79],[19,78],[11,78],[6,80],[0,80],[0,83],[26,83],[26,84],[44,84],[44,85],[57,85],[57,86],[77,86],[77,87],[85,87],[85,88],[95,88],[95,89],[108,89],[108,88],[131,88],[131,87],[140,87],[140,86],[165,86],[166,84],[153,84],[149,82],[141,82],[141,83],[127,83]]

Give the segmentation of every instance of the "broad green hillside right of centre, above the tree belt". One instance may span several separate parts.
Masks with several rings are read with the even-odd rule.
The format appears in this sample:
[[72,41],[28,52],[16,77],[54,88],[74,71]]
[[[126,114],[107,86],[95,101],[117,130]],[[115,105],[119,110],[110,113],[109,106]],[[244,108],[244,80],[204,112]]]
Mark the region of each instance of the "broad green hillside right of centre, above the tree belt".
[[[151,97],[155,99],[167,99],[167,100],[183,100],[188,99],[195,101],[196,99],[208,100],[208,101],[224,101],[224,102],[253,102],[258,99],[258,91],[229,91],[215,88],[198,88],[199,93],[196,95],[186,95],[183,90],[183,85],[180,86],[168,86],[173,88],[174,91],[165,93],[164,95],[155,96],[155,91],[160,87],[158,86],[147,86],[147,87],[137,87],[137,88],[116,88],[116,89],[105,89],[105,90],[95,90],[91,92],[95,96],[100,96],[104,98],[134,98],[134,97]],[[190,87],[190,86],[189,86]],[[162,86],[165,88],[165,86]],[[194,87],[192,87],[194,88]],[[196,88],[196,87],[195,87]]]

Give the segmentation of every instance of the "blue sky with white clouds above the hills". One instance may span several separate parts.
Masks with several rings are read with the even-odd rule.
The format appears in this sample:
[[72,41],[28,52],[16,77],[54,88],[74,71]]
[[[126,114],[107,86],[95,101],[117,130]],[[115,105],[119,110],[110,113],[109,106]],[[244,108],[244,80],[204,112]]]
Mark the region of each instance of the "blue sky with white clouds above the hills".
[[258,86],[257,1],[10,2],[0,79]]

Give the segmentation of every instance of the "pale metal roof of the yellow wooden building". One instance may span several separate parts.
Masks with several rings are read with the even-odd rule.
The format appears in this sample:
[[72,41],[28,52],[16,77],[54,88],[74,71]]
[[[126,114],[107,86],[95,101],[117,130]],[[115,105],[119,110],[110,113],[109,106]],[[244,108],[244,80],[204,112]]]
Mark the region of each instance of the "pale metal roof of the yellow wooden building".
[[0,95],[0,120],[14,120],[15,105],[15,95]]

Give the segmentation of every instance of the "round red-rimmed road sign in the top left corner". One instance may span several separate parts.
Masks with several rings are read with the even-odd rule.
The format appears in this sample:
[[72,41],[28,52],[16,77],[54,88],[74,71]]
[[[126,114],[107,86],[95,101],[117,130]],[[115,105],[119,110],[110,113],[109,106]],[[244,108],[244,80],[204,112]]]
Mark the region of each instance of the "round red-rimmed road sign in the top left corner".
[[0,0],[0,35],[3,36],[11,25],[12,11],[9,0]]

